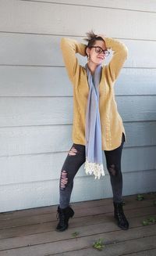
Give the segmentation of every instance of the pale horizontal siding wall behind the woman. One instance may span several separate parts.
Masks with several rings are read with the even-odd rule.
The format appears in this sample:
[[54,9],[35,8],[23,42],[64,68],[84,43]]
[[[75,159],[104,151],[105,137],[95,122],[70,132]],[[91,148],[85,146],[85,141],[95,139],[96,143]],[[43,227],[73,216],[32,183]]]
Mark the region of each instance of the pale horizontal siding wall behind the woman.
[[[59,41],[90,29],[129,48],[115,85],[127,136],[123,194],[156,189],[155,27],[154,0],[0,1],[0,211],[58,204],[73,122]],[[109,176],[80,168],[72,201],[103,197],[112,197]]]

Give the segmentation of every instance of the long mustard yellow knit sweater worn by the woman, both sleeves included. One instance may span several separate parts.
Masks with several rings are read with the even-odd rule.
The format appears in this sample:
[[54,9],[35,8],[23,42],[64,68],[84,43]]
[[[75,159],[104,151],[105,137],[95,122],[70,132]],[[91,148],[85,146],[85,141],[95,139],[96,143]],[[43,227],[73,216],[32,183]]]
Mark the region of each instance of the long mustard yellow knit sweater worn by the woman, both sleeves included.
[[[125,129],[115,102],[114,84],[127,57],[127,48],[122,42],[102,36],[113,56],[107,66],[102,67],[99,85],[99,110],[101,116],[102,150],[115,150],[122,142]],[[62,38],[61,49],[66,70],[73,84],[73,142],[85,145],[85,121],[89,87],[87,73],[80,66],[76,53],[86,56],[85,46],[73,39]]]

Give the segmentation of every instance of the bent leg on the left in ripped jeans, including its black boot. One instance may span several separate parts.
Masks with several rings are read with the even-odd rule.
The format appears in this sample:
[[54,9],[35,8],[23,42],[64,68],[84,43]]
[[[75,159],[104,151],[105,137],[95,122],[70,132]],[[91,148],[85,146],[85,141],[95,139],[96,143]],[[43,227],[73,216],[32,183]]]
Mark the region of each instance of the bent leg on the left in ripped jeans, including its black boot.
[[85,161],[85,146],[73,144],[62,166],[61,177],[59,182],[59,222],[56,230],[62,232],[68,229],[69,218],[72,218],[74,211],[69,207],[69,201],[73,190],[73,178],[75,177],[80,166]]

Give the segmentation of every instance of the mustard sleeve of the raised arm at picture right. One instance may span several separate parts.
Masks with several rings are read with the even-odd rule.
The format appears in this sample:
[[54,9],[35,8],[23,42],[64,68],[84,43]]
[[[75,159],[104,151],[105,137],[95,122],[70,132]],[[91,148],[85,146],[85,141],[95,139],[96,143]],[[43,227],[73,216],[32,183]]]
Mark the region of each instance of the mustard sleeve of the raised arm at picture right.
[[128,49],[126,45],[124,45],[121,41],[113,38],[107,38],[105,36],[101,37],[105,41],[106,48],[112,49],[112,51],[114,52],[110,63],[108,63],[108,66],[106,67],[106,70],[108,71],[108,76],[113,82],[118,77],[124,62],[127,59]]

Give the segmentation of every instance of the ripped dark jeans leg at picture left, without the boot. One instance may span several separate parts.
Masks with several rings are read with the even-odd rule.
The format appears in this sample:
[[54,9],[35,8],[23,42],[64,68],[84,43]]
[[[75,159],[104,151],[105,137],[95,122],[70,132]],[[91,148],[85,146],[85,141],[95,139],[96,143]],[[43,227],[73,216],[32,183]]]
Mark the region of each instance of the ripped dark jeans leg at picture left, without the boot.
[[59,207],[62,209],[69,206],[73,190],[73,179],[84,161],[85,146],[73,143],[61,171],[59,183]]

